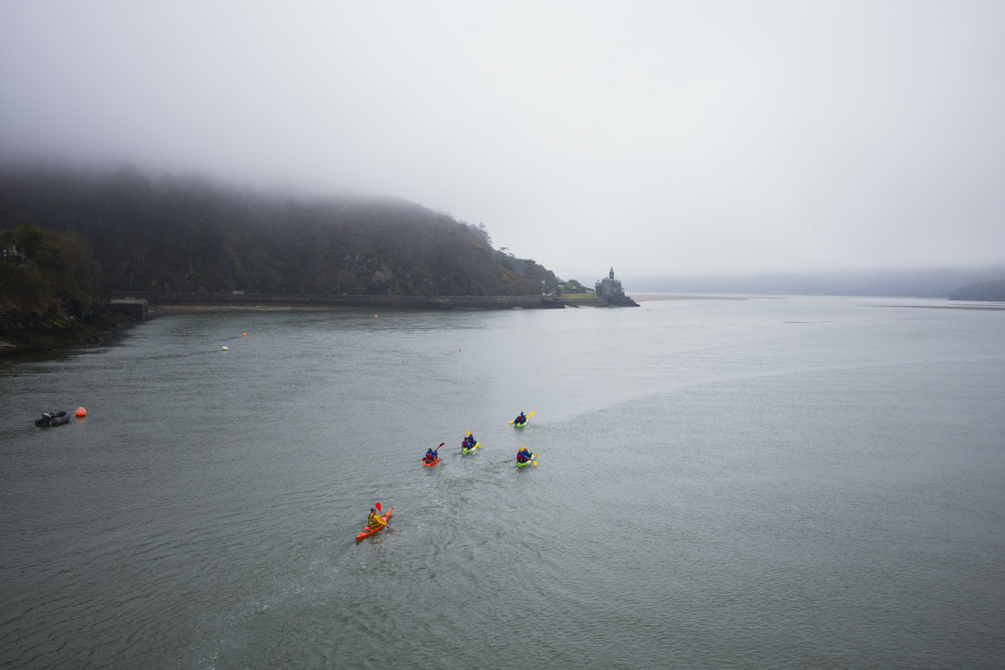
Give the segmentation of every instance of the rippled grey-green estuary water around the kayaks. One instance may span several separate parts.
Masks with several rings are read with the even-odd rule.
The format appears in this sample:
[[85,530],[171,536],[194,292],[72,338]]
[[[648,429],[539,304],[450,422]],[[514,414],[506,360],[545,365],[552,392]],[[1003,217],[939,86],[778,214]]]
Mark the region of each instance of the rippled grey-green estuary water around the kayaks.
[[1005,311],[945,304],[207,312],[0,363],[0,667],[1002,667]]

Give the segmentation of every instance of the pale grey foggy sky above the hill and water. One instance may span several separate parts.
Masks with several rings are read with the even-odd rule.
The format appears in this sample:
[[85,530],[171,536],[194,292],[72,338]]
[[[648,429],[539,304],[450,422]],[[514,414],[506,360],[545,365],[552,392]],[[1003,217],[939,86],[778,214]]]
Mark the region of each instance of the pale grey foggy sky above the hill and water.
[[1005,261],[1005,2],[0,0],[0,152],[356,189],[563,278]]

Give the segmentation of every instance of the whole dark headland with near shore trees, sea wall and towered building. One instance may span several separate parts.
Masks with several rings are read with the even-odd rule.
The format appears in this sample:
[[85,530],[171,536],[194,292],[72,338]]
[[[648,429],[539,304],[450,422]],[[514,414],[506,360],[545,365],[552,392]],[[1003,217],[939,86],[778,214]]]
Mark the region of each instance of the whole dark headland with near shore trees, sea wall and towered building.
[[638,306],[621,282],[565,298],[541,263],[389,197],[300,199],[195,175],[0,167],[0,352],[99,341],[166,305]]

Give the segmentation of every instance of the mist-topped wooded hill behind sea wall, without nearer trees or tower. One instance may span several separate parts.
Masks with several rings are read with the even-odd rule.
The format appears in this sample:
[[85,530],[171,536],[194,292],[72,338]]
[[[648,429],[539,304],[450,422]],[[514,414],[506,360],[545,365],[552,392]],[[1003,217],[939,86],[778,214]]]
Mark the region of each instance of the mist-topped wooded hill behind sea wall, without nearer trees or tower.
[[292,199],[198,176],[0,171],[0,229],[85,240],[114,290],[531,295],[560,280],[482,225],[392,198]]

